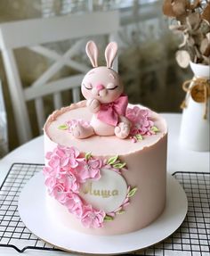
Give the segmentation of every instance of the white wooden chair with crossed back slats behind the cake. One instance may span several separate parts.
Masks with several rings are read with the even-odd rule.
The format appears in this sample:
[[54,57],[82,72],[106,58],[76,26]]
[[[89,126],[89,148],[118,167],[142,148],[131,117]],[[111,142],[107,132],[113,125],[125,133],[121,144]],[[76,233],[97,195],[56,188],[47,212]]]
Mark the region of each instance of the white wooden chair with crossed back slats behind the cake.
[[[2,51],[4,68],[7,75],[12,107],[20,144],[32,137],[28,119],[27,102],[35,100],[36,117],[40,133],[44,125],[45,95],[53,95],[54,108],[61,108],[61,91],[72,89],[73,101],[77,102],[80,95],[80,84],[84,73],[89,68],[72,60],[77,54],[86,37],[108,35],[109,40],[117,32],[119,26],[119,13],[87,12],[69,16],[53,17],[49,19],[36,19],[28,21],[15,21],[0,24],[0,50]],[[112,37],[112,38],[111,38]],[[75,45],[61,55],[45,47],[46,43],[59,42],[67,39],[76,39]],[[27,88],[22,87],[20,72],[14,55],[14,50],[22,47],[51,58],[54,62],[48,70],[36,79]],[[49,81],[50,78],[63,66],[72,67],[80,73],[68,78]]]

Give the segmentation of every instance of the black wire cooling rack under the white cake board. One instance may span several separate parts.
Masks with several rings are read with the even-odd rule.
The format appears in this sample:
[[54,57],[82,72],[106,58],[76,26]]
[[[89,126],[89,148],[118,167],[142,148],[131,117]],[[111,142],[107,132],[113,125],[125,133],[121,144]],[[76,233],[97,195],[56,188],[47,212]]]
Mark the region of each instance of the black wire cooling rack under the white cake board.
[[[18,198],[21,189],[38,171],[40,164],[14,163],[0,186],[0,247],[17,252],[27,250],[61,251],[33,235],[20,220]],[[182,226],[160,244],[126,255],[209,256],[210,174],[175,172],[188,197],[188,213]],[[151,234],[152,235],[152,234]]]

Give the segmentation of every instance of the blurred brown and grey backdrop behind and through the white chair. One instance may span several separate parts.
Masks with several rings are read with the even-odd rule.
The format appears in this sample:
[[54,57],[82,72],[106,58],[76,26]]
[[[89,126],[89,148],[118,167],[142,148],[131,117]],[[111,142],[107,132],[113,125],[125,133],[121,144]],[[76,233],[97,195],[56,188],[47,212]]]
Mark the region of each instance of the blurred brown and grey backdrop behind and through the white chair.
[[[162,0],[1,0],[0,23],[29,19],[50,19],[61,15],[85,12],[120,12],[117,31],[118,72],[125,85],[130,103],[141,103],[158,112],[179,112],[184,92],[182,82],[191,78],[189,69],[182,70],[175,62],[177,37],[168,29],[169,21],[162,13]],[[77,24],[76,27],[77,29]],[[101,49],[100,63],[104,62],[106,38],[96,38]],[[55,42],[49,47],[64,54],[74,41]],[[52,65],[40,54],[26,48],[15,50],[23,87],[28,87]],[[84,51],[75,56],[87,65]],[[54,78],[74,74],[65,67]],[[12,111],[11,96],[0,51],[0,156],[20,145]],[[1,100],[2,95],[2,100]],[[3,104],[4,101],[4,104]],[[51,98],[46,98],[46,112],[52,111]],[[63,105],[70,103],[70,92],[64,95]],[[2,106],[1,106],[2,105]],[[33,136],[38,136],[34,103],[28,102]]]

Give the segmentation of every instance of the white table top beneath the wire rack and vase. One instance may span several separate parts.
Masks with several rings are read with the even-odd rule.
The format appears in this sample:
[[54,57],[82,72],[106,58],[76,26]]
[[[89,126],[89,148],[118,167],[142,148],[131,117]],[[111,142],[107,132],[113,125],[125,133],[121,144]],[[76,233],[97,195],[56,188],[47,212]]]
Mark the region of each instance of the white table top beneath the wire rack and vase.
[[[209,153],[189,151],[179,144],[179,132],[181,124],[181,114],[162,113],[168,124],[168,155],[167,171],[209,172]],[[44,163],[44,140],[43,136],[38,136],[25,145],[21,145],[11,153],[7,154],[0,161],[0,185],[5,175],[14,162]],[[14,256],[20,255],[13,249],[1,248],[0,255]],[[24,255],[67,255],[65,252],[38,252],[26,251]],[[68,253],[68,255],[75,255]]]

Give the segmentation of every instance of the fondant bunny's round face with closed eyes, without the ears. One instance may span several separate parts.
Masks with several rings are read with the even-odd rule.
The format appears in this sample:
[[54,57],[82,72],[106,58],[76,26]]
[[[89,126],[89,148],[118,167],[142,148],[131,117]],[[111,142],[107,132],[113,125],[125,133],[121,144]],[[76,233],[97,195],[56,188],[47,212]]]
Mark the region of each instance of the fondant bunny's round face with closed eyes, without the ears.
[[116,71],[107,67],[90,70],[82,81],[85,99],[97,99],[100,103],[112,103],[123,93],[123,85]]

